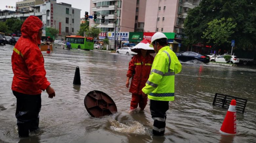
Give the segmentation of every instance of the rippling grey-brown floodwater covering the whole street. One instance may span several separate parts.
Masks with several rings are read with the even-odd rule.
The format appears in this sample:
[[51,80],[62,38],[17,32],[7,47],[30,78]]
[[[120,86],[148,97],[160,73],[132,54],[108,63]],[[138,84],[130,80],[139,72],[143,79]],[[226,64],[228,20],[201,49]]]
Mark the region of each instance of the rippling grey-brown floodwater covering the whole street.
[[[152,136],[149,105],[129,112],[131,93],[125,86],[132,56],[99,51],[43,52],[48,80],[56,91],[42,93],[40,128],[29,138],[18,137],[16,98],[11,91],[13,46],[0,46],[0,143],[255,143],[256,69],[182,63],[176,75],[175,101],[169,103],[166,133]],[[76,66],[81,86],[74,86]],[[100,118],[89,115],[84,97],[92,90],[107,93],[118,113]],[[220,135],[227,109],[212,105],[215,93],[248,99],[244,114],[237,113],[237,134]]]

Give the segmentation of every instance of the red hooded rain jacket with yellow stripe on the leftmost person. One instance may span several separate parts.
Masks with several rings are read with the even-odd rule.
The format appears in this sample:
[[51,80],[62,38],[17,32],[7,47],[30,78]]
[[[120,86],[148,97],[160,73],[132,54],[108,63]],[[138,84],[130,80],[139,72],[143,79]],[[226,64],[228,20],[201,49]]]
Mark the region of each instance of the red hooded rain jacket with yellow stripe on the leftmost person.
[[12,71],[14,73],[12,90],[36,95],[45,90],[50,82],[45,77],[44,57],[38,44],[38,31],[42,21],[36,16],[28,17],[21,27],[22,36],[16,43],[12,53]]

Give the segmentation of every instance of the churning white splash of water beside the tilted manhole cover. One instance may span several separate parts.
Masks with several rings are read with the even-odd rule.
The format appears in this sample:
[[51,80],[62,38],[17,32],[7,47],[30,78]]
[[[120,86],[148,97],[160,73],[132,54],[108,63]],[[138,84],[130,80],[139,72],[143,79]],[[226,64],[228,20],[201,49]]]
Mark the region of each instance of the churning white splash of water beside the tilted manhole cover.
[[125,123],[119,123],[118,121],[110,121],[110,129],[122,133],[137,133],[145,134],[145,127],[138,121],[126,121]]

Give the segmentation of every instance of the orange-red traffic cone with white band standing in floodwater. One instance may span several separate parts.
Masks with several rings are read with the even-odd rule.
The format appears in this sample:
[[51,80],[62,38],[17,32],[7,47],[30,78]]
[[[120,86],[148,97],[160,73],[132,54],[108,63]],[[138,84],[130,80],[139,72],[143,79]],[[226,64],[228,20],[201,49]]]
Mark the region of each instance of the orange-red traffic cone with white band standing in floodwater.
[[236,134],[236,100],[232,99],[226,117],[220,128],[220,133],[224,135]]

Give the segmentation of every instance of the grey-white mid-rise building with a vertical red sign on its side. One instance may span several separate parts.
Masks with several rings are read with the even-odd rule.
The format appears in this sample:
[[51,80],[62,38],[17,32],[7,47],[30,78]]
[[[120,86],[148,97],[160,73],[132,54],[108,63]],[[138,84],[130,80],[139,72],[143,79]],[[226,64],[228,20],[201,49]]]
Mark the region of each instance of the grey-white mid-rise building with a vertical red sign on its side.
[[[0,11],[0,21],[6,21],[12,17],[25,20],[28,16],[37,16],[46,25],[46,28],[59,30],[58,35],[64,38],[66,35],[76,35],[80,29],[80,11],[80,9],[72,8],[71,4],[46,2],[32,6],[30,12]],[[43,36],[48,35],[45,31],[43,32]]]

